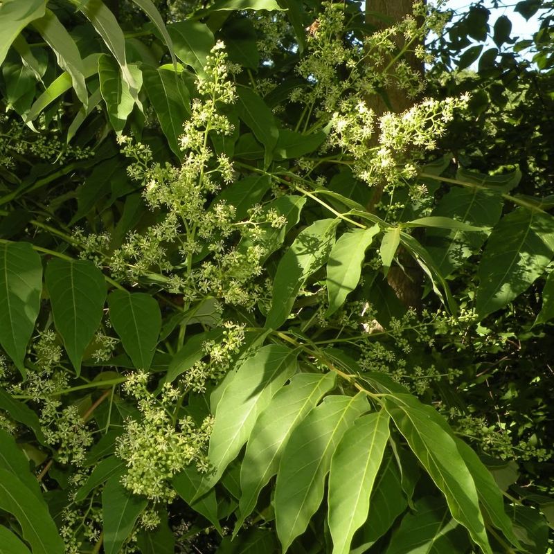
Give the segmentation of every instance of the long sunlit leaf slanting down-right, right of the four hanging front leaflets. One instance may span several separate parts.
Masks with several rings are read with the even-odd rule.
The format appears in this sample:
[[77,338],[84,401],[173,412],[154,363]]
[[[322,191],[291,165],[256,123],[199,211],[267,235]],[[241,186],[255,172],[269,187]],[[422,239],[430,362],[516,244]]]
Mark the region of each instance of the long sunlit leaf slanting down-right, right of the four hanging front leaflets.
[[452,517],[467,528],[485,554],[492,554],[474,479],[458,452],[454,437],[436,422],[440,416],[431,406],[421,404],[411,395],[386,397],[384,406],[445,495]]

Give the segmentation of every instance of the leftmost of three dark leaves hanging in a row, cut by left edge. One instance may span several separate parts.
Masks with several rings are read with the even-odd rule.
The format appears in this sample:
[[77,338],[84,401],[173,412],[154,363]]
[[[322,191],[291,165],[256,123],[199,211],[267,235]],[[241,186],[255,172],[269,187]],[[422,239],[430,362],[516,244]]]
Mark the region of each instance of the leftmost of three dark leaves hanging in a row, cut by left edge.
[[0,244],[0,344],[23,377],[41,292],[42,263],[33,247],[28,242]]

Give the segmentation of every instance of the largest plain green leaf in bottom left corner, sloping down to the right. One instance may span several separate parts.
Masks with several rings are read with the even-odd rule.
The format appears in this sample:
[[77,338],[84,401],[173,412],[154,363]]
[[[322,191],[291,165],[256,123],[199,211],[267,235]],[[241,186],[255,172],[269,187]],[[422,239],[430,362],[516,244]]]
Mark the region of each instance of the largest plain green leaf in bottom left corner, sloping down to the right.
[[0,468],[0,510],[15,516],[33,554],[63,554],[64,542],[44,502],[12,472]]

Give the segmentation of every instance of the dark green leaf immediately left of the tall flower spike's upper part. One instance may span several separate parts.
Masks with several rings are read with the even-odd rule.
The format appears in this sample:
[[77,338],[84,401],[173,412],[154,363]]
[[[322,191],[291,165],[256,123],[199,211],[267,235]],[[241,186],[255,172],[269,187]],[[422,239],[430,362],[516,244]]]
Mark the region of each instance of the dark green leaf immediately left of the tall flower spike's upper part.
[[181,77],[175,71],[142,66],[144,87],[150,103],[156,111],[163,134],[172,152],[179,158],[179,136],[190,112],[190,94]]

